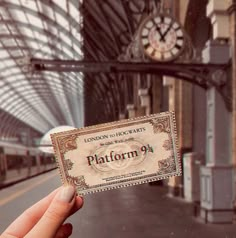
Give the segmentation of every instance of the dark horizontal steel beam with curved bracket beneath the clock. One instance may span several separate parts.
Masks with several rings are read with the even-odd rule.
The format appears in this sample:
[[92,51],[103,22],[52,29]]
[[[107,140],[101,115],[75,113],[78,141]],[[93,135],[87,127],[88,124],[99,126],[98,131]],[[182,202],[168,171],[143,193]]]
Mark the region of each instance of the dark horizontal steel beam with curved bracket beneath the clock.
[[157,63],[120,61],[80,61],[80,60],[30,60],[31,69],[36,71],[85,72],[85,73],[143,73],[172,76],[186,80],[204,89],[216,87],[222,95],[226,107],[231,110],[232,100],[229,79],[226,77],[229,64],[204,63]]

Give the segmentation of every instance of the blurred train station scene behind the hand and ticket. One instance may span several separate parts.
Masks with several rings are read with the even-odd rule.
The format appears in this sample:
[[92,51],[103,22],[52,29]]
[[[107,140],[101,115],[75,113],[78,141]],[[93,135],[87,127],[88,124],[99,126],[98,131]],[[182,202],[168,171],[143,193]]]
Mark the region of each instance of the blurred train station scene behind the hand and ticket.
[[1,0],[0,231],[60,186],[51,133],[175,111],[183,176],[89,195],[73,237],[236,237],[235,60],[235,0]]

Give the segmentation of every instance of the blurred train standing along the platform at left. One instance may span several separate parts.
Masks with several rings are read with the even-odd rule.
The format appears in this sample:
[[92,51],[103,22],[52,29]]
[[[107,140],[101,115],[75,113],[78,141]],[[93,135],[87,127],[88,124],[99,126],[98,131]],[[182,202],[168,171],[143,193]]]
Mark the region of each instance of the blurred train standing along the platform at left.
[[53,170],[54,154],[37,147],[0,141],[0,188]]

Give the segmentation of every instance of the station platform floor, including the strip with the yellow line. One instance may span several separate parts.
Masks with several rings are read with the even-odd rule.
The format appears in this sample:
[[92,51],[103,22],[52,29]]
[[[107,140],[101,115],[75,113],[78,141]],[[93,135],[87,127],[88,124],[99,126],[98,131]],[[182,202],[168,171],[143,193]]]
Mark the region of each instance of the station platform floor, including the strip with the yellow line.
[[[60,184],[54,170],[0,190],[0,234]],[[166,187],[149,184],[87,195],[69,221],[72,238],[236,238],[236,224],[199,222],[190,203],[168,197]]]

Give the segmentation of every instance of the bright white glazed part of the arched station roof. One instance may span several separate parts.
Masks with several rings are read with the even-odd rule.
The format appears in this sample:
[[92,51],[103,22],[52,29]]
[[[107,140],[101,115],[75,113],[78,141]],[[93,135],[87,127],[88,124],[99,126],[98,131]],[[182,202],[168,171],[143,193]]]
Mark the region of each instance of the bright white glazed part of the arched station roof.
[[[4,37],[0,38],[0,109],[26,120],[41,132],[57,126],[58,121],[82,126],[82,122],[73,118],[75,112],[81,113],[80,109],[73,109],[83,95],[81,74],[38,75],[25,70],[25,57],[82,59],[78,43],[83,40],[79,33],[79,3],[74,0],[1,1],[4,4],[0,6],[0,34]],[[82,110],[82,104],[78,105]],[[63,116],[57,118],[60,114]]]

